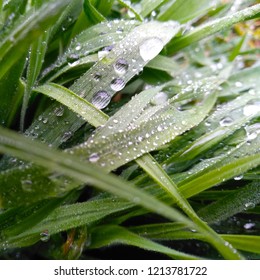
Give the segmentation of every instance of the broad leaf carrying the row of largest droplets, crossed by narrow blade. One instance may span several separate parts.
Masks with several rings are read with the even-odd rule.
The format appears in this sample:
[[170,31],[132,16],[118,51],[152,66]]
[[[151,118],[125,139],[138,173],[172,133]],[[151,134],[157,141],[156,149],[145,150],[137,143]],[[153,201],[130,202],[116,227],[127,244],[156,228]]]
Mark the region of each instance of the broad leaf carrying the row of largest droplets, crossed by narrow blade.
[[[165,24],[159,22],[149,22],[134,28],[132,32],[116,44],[107,56],[98,61],[86,74],[78,79],[70,87],[70,90],[88,101],[92,101],[94,105],[96,99],[100,100],[99,94],[102,91],[102,96],[106,98],[104,100],[101,98],[101,104],[96,103],[96,107],[99,109],[104,108],[118,91],[118,87],[116,90],[111,88],[111,82],[115,79],[120,79],[120,81],[124,81],[122,85],[125,85],[161,51],[163,46],[178,30],[179,25],[177,23]],[[133,41],[135,44],[132,46]],[[130,45],[132,48],[129,48]],[[149,57],[147,57],[147,49],[145,48],[152,50],[147,52]],[[140,49],[142,50],[141,53]],[[146,55],[144,55],[144,49]],[[125,65],[125,61],[127,61],[127,65]],[[114,67],[118,68],[119,71],[116,70],[116,72]],[[113,88],[115,89],[115,87]],[[57,104],[50,106],[40,116],[40,119],[36,120],[26,131],[26,134],[35,134],[35,127],[37,127],[39,128],[37,137],[47,143],[51,143],[53,147],[57,147],[67,141],[70,138],[69,135],[72,135],[84,122],[76,114],[65,108],[64,115],[57,118],[55,114],[56,107]],[[62,126],[58,125],[58,123],[62,123]]]

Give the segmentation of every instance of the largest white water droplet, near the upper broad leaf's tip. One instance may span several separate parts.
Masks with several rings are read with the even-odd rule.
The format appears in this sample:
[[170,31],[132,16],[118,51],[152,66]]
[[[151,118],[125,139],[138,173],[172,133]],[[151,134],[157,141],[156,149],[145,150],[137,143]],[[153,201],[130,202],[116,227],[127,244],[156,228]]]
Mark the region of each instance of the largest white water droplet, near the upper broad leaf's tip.
[[163,49],[163,42],[157,37],[149,38],[145,40],[139,46],[140,56],[144,61],[149,61],[156,57]]

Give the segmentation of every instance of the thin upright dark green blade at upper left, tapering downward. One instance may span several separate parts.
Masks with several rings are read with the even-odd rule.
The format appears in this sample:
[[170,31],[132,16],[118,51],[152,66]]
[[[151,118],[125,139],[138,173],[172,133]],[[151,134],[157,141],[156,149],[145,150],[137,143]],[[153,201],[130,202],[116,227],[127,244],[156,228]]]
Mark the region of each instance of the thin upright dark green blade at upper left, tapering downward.
[[37,42],[32,44],[29,51],[30,57],[29,57],[29,65],[27,68],[27,81],[26,81],[26,87],[23,96],[23,104],[22,104],[21,118],[20,118],[21,131],[24,130],[26,110],[32,93],[32,88],[42,68],[44,56],[47,50],[47,42],[48,42],[49,34],[50,31],[46,31],[43,35],[41,35],[38,38]]

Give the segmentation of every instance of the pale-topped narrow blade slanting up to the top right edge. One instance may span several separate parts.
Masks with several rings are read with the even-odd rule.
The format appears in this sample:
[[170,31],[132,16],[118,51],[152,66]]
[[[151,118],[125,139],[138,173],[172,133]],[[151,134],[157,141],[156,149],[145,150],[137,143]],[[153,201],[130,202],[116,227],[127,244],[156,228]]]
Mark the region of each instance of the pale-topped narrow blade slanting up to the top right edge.
[[187,47],[192,43],[208,37],[220,30],[227,29],[235,23],[249,20],[259,13],[260,4],[256,4],[235,14],[210,21],[204,25],[200,25],[187,34],[171,40],[171,42],[167,45],[168,54],[174,54],[178,50]]

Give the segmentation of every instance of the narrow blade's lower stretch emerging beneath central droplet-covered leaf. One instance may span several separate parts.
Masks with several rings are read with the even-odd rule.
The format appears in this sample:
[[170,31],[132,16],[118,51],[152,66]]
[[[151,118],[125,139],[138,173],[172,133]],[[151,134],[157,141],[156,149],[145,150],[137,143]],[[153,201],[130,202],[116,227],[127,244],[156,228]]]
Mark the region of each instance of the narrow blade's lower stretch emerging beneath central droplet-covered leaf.
[[175,199],[176,204],[197,224],[199,231],[207,236],[208,242],[210,242],[224,257],[242,258],[230,244],[227,244],[224,239],[198,217],[188,201],[182,196],[178,187],[152,156],[149,154],[143,155],[141,158],[137,159],[136,162]]

